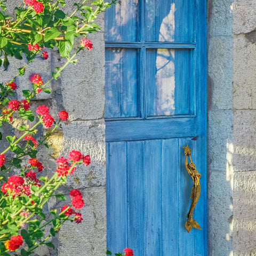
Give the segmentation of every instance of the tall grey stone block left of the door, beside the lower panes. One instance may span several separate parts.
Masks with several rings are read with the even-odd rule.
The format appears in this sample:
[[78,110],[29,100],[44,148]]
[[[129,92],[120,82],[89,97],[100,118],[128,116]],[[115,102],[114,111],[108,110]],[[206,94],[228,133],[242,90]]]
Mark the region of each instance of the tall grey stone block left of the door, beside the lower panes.
[[79,63],[61,74],[63,106],[70,119],[99,119],[105,109],[103,33],[88,36],[93,49],[79,53]]

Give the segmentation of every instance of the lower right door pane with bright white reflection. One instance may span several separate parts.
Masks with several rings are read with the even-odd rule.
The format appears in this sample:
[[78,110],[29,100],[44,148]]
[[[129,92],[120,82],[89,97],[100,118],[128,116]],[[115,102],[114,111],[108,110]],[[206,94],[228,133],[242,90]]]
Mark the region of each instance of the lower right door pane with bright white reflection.
[[189,114],[189,62],[189,50],[147,50],[147,116]]

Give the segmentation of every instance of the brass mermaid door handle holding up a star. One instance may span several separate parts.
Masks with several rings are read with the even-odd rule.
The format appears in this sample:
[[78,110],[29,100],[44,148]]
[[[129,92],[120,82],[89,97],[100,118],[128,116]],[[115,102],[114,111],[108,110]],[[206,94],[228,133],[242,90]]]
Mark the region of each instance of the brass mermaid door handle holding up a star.
[[[199,199],[200,192],[201,192],[201,186],[199,183],[201,174],[196,170],[196,166],[191,160],[191,157],[190,157],[191,152],[190,151],[192,151],[192,150],[188,147],[188,145],[187,145],[187,147],[182,147],[182,148],[184,149],[184,154],[186,157],[185,158],[186,169],[187,169],[188,174],[190,175],[191,179],[193,180],[193,187],[192,187],[191,196],[190,196],[191,205],[190,205],[190,209],[187,214],[188,220],[185,223],[185,228],[187,229],[187,231],[189,233],[191,228],[197,228],[197,229],[201,230],[201,227],[199,226],[199,224],[195,220],[193,220],[193,212],[195,210],[195,207],[196,207],[196,204]],[[189,161],[190,161],[189,164],[188,164],[187,157],[189,157]]]

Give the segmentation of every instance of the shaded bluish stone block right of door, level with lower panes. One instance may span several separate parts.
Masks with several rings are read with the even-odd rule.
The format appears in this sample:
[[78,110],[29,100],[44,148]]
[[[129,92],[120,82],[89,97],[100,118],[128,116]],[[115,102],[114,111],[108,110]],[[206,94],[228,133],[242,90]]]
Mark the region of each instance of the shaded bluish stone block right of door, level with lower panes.
[[232,109],[233,41],[231,37],[209,39],[208,74],[211,78],[211,108]]

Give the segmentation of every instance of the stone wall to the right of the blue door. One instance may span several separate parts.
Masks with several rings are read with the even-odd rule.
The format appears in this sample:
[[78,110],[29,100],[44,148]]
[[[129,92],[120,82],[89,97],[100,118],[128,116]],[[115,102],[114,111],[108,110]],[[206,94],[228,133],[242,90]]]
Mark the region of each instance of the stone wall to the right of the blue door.
[[209,255],[256,254],[256,2],[208,1]]

